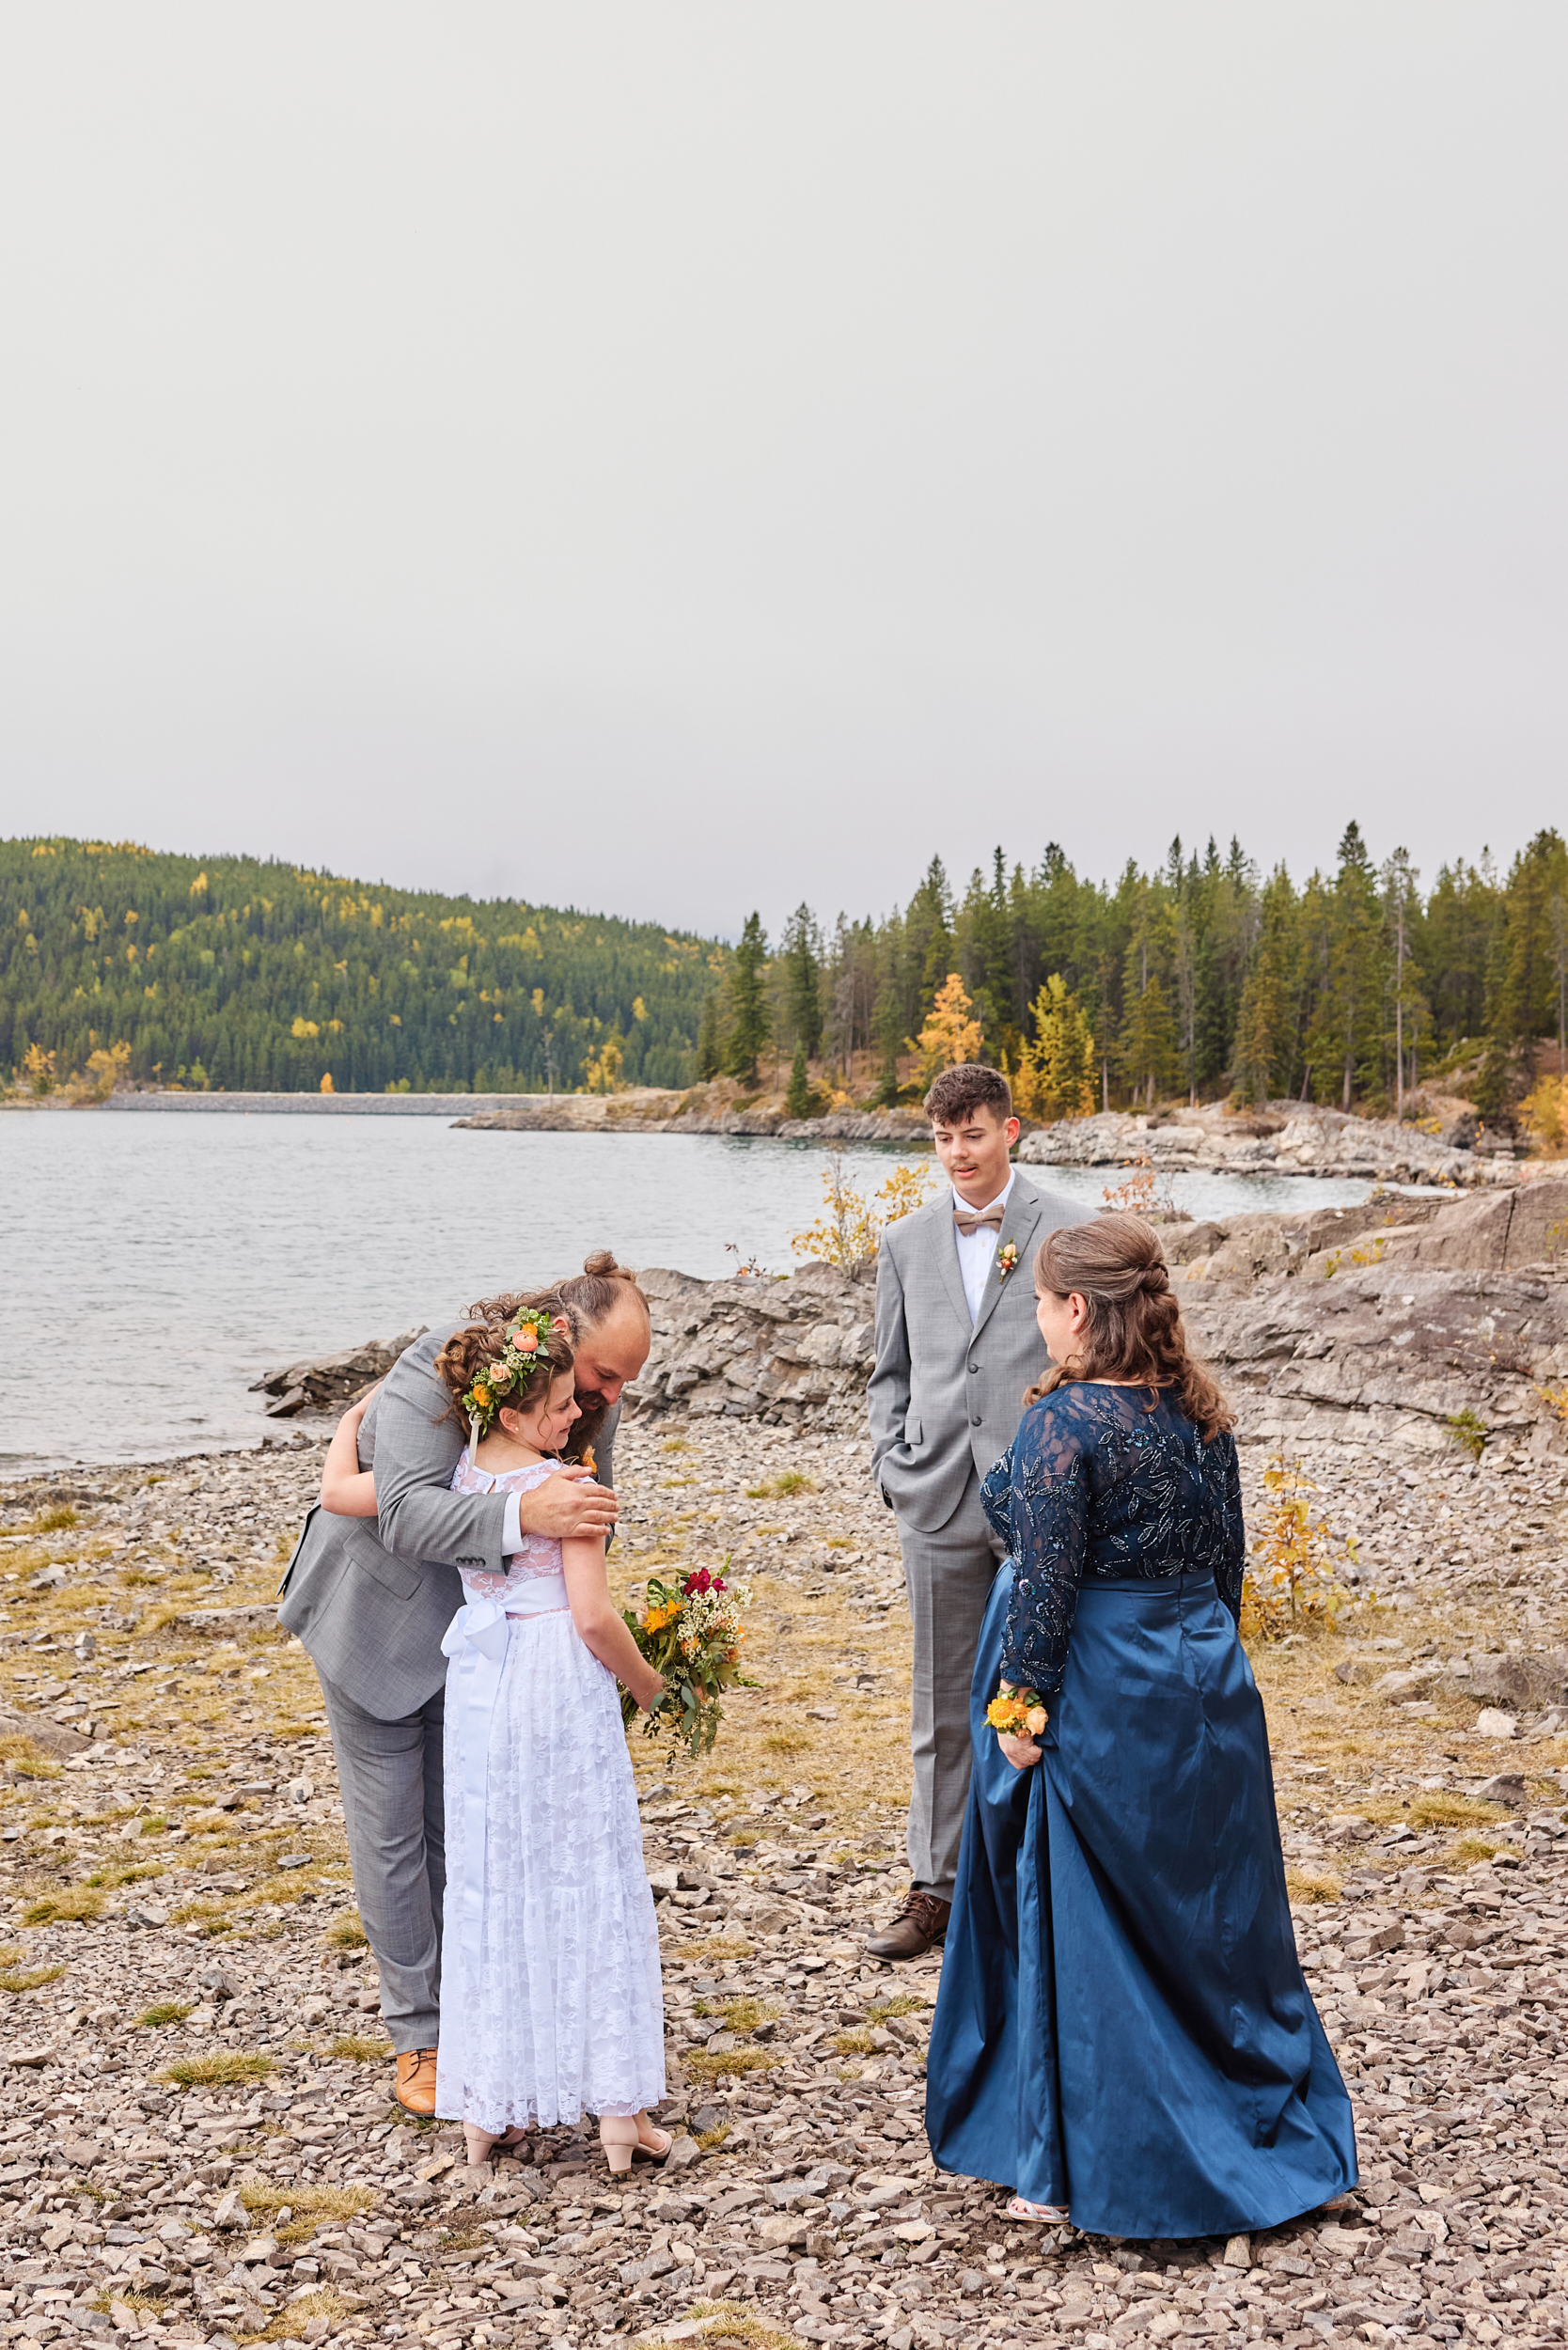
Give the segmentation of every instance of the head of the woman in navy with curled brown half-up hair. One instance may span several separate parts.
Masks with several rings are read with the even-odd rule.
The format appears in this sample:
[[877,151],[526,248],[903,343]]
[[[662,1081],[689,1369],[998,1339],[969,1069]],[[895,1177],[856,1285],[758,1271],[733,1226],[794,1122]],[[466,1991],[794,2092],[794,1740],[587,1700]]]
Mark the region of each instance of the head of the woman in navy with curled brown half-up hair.
[[1034,1288],[1053,1297],[1077,1290],[1088,1323],[1072,1361],[1030,1386],[1025,1403],[1072,1379],[1124,1379],[1171,1389],[1206,1445],[1234,1429],[1237,1415],[1187,1347],[1159,1234],[1140,1215],[1114,1210],[1093,1224],[1058,1224],[1034,1255]]

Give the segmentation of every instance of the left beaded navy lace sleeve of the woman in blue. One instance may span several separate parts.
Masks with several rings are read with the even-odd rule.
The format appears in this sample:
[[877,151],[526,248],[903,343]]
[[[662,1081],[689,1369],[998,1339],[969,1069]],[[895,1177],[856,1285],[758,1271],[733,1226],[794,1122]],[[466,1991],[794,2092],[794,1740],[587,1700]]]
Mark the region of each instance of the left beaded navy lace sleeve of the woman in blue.
[[1046,1403],[1025,1412],[1013,1443],[1013,1596],[1001,1636],[1001,1678],[1056,1697],[1088,1542],[1088,1471],[1077,1431]]

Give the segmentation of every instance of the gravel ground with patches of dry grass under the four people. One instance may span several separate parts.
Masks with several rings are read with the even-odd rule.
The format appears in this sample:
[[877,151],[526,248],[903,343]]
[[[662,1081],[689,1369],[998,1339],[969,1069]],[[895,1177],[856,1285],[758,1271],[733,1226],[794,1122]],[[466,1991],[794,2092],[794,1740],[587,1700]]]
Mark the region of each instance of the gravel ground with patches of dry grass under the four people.
[[[550,2131],[470,2178],[456,2131],[400,2120],[308,1661],[266,1619],[181,1622],[268,1598],[317,1464],[301,1438],[5,1490],[0,2334],[1561,2338],[1561,1452],[1305,1462],[1361,1539],[1361,1605],[1258,1673],[1363,2183],[1232,2244],[1041,2237],[929,2162],[938,1962],[860,1955],[905,1882],[907,1629],[853,1419],[623,1443],[621,1572],[738,1546],[766,1683],[698,1767],[635,1741],[677,2157],[628,2186]],[[1262,1466],[1248,1448],[1253,1516]],[[1544,1664],[1479,1734],[1467,1690],[1507,1652]],[[247,2077],[190,2080],[221,2059]]]

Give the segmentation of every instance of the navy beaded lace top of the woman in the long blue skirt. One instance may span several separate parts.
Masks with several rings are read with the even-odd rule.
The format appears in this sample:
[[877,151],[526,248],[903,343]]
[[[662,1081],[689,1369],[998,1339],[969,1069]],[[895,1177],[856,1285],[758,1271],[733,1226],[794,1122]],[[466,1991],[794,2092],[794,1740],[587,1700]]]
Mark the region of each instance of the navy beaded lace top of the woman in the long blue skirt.
[[1234,1436],[1211,1445],[1161,1391],[1074,1382],[1041,1396],[980,1488],[1013,1560],[1001,1678],[1053,1697],[1079,1584],[1213,1572],[1241,1614],[1246,1535]]

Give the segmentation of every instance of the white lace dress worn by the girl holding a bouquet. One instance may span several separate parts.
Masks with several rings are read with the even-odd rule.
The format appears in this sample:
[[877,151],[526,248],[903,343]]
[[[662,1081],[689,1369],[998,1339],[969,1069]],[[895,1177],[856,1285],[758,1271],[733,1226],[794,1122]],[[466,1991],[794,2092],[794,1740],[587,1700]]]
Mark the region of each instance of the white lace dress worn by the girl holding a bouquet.
[[[555,1462],[454,1492],[529,1492]],[[447,1673],[447,1906],[435,2110],[512,2124],[665,2094],[663,1981],[614,1673],[578,1638],[559,1542],[461,1570]]]

